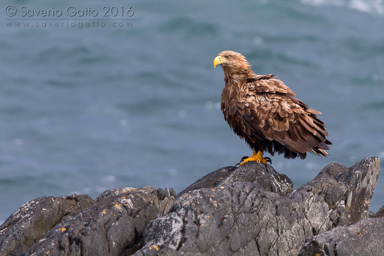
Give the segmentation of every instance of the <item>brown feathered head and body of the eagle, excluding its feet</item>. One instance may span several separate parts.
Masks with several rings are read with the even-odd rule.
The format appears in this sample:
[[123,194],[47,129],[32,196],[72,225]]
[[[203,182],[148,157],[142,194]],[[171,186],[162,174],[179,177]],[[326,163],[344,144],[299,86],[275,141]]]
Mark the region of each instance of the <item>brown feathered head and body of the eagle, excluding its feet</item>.
[[283,154],[285,158],[307,152],[327,156],[332,144],[326,137],[321,112],[308,108],[284,82],[269,75],[256,75],[248,61],[237,52],[224,51],[214,65],[224,70],[225,86],[221,110],[235,134],[255,152]]

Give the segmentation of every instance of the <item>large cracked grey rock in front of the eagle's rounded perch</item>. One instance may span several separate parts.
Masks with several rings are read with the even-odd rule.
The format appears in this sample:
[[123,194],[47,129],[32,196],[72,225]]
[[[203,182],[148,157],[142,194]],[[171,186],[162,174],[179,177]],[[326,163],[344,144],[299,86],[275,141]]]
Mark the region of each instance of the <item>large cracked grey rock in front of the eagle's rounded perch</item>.
[[329,164],[284,197],[264,182],[224,179],[179,197],[146,227],[134,255],[297,255],[313,236],[369,216],[378,173],[377,157]]

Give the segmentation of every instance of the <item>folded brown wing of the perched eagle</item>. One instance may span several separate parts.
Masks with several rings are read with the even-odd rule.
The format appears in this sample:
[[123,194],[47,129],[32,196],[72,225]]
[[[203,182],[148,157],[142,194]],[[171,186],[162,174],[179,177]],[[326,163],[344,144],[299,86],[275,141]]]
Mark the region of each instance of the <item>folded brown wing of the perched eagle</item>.
[[272,77],[250,77],[245,84],[238,108],[246,126],[243,132],[277,141],[297,153],[313,147],[329,150],[324,143],[329,142],[325,125],[316,116],[321,112],[309,109],[281,80]]

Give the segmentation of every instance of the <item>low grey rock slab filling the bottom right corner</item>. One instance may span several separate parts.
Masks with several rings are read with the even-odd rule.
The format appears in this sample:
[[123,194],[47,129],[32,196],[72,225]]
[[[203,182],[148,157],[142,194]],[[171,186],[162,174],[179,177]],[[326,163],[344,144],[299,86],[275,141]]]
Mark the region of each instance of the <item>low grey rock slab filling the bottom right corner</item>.
[[384,255],[384,218],[370,218],[336,227],[311,238],[298,256]]

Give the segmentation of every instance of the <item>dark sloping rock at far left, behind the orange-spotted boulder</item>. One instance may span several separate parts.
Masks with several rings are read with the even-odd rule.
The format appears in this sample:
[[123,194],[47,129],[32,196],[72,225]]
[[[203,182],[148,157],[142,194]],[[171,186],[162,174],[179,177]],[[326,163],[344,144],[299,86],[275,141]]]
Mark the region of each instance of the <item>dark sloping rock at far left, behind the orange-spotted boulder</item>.
[[41,197],[14,212],[0,226],[0,255],[20,255],[60,220],[93,203],[87,195]]

